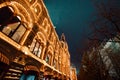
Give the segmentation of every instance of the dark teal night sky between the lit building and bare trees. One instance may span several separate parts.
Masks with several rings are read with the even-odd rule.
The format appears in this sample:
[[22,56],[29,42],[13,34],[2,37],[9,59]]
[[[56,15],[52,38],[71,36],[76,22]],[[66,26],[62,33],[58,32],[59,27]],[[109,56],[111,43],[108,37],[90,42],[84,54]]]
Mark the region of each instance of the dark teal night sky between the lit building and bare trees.
[[89,22],[95,9],[91,0],[44,0],[60,37],[64,32],[71,55],[71,63],[79,70],[81,53],[90,33]]

